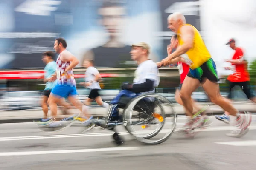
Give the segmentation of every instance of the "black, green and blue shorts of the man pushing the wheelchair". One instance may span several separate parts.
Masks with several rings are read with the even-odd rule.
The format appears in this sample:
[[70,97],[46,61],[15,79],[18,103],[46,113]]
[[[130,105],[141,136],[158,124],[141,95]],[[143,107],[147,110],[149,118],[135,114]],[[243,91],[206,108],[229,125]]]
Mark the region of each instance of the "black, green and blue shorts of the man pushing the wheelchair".
[[212,58],[210,58],[207,62],[204,62],[204,64],[202,64],[198,68],[195,68],[194,70],[190,68],[187,76],[198,79],[201,83],[205,79],[209,79],[212,82],[220,81],[220,79],[218,79],[215,62]]

